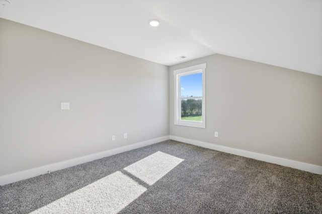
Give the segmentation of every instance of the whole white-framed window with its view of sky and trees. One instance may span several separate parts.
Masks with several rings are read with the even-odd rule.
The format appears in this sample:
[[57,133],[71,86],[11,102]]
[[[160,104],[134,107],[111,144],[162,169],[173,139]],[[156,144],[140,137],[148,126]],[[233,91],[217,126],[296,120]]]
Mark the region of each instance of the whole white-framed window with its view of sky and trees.
[[175,125],[206,128],[206,63],[174,71]]

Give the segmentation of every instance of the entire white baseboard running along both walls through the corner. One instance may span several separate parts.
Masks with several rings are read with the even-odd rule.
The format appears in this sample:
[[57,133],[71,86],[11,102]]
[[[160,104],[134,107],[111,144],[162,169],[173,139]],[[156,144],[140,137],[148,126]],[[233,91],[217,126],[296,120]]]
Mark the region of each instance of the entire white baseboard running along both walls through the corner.
[[316,174],[322,174],[322,166],[317,166],[317,165],[303,163],[303,162],[299,162],[299,161],[295,161],[295,160],[274,157],[274,156],[260,154],[260,153],[256,153],[256,152],[250,152],[250,151],[246,151],[246,150],[235,149],[235,148],[230,148],[230,147],[226,147],[226,146],[220,146],[220,145],[216,145],[216,144],[212,144],[212,143],[206,143],[206,142],[202,142],[202,141],[197,141],[197,140],[192,140],[192,139],[187,139],[187,138],[171,135],[171,136],[159,137],[159,138],[155,138],[155,139],[151,139],[151,140],[147,140],[147,141],[143,141],[143,142],[139,142],[139,143],[135,143],[135,144],[131,144],[131,145],[127,145],[127,146],[123,146],[123,147],[119,147],[119,148],[115,148],[115,149],[111,149],[111,150],[107,150],[107,151],[103,151],[103,152],[99,152],[99,153],[95,153],[95,154],[90,154],[90,155],[86,155],[86,156],[82,156],[82,157],[78,157],[78,158],[74,158],[74,159],[70,159],[70,160],[66,160],[66,161],[62,161],[62,162],[58,162],[58,163],[53,163],[50,165],[45,165],[45,166],[41,166],[41,167],[37,167],[37,168],[33,168],[33,169],[21,171],[21,172],[9,174],[9,175],[4,175],[4,176],[0,177],[0,185],[5,185],[5,184],[13,183],[13,182],[16,182],[19,180],[24,180],[27,178],[41,175],[41,174],[45,174],[45,173],[47,173],[48,170],[49,171],[57,171],[57,170],[64,169],[64,168],[67,168],[70,166],[86,163],[86,162],[97,160],[97,159],[100,159],[103,157],[108,157],[108,156],[119,154],[119,153],[122,153],[125,151],[130,151],[133,149],[152,145],[154,143],[162,142],[162,141],[169,140],[169,139],[177,140],[180,142],[189,143],[192,145],[201,146],[204,148],[209,148],[209,149],[213,149],[213,150],[217,150],[217,151],[223,151],[223,152],[227,152],[230,154],[235,154],[235,155],[239,155],[239,156],[243,156],[243,157],[249,157],[249,158],[253,158],[256,160],[262,160],[262,161],[269,162],[269,163],[275,163],[275,164],[282,165],[282,166],[288,166],[291,168],[300,169],[303,171],[308,171],[308,172],[312,172],[312,173],[316,173]]

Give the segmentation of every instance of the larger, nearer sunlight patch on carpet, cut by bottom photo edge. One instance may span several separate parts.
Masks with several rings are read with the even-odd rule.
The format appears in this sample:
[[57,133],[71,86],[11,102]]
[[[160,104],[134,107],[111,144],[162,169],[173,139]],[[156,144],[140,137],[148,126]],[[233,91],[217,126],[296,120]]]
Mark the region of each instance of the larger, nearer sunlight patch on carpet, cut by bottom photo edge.
[[117,213],[144,191],[144,186],[117,171],[31,213]]

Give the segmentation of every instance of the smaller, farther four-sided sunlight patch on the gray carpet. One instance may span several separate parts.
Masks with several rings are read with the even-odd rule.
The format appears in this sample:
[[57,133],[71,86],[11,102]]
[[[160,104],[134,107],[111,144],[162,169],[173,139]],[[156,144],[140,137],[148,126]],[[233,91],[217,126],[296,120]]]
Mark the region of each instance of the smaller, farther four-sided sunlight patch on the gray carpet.
[[160,151],[155,152],[127,167],[127,172],[141,179],[145,183],[152,185],[162,178],[184,159],[166,154]]

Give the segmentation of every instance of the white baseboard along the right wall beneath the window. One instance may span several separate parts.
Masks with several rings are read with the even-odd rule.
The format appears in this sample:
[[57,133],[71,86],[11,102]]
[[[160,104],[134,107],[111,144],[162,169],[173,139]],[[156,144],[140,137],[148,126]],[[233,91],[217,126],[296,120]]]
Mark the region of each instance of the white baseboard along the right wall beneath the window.
[[282,166],[288,166],[291,168],[300,169],[303,171],[308,171],[308,172],[312,172],[312,173],[316,173],[316,174],[322,174],[322,166],[317,166],[317,165],[313,165],[313,164],[309,164],[309,163],[298,162],[295,160],[274,157],[274,156],[270,156],[270,155],[266,155],[266,154],[260,154],[260,153],[256,153],[256,152],[245,151],[245,150],[230,148],[230,147],[226,147],[226,146],[220,146],[220,145],[216,145],[216,144],[212,144],[212,143],[206,143],[206,142],[191,140],[191,139],[172,136],[172,135],[170,135],[170,139],[184,142],[184,143],[189,143],[189,144],[196,145],[196,146],[201,146],[204,148],[217,150],[217,151],[223,151],[223,152],[227,152],[230,154],[235,154],[235,155],[239,155],[239,156],[243,156],[243,157],[249,157],[249,158],[253,158],[256,160],[262,160],[262,161],[269,162],[269,163],[275,163],[275,164],[282,165]]

